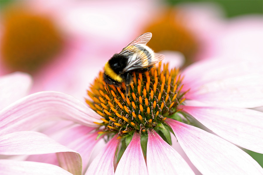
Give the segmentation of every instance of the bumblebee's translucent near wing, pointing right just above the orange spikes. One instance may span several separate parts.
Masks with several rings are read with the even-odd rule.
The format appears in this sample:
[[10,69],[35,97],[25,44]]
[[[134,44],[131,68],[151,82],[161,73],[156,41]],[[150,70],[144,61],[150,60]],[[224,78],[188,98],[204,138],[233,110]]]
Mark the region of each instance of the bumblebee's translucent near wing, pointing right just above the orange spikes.
[[122,73],[140,69],[143,67],[152,66],[165,58],[164,55],[154,53],[154,57],[150,58],[146,55],[137,54],[135,58],[129,60],[127,66],[123,69]]

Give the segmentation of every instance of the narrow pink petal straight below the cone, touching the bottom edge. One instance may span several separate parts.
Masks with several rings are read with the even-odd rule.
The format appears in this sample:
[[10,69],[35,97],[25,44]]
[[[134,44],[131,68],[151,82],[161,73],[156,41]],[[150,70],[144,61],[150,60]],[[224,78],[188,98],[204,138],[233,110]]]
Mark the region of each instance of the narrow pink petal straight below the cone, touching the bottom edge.
[[138,174],[147,175],[147,167],[141,149],[140,134],[135,133],[128,147],[124,151],[115,171],[115,175]]

